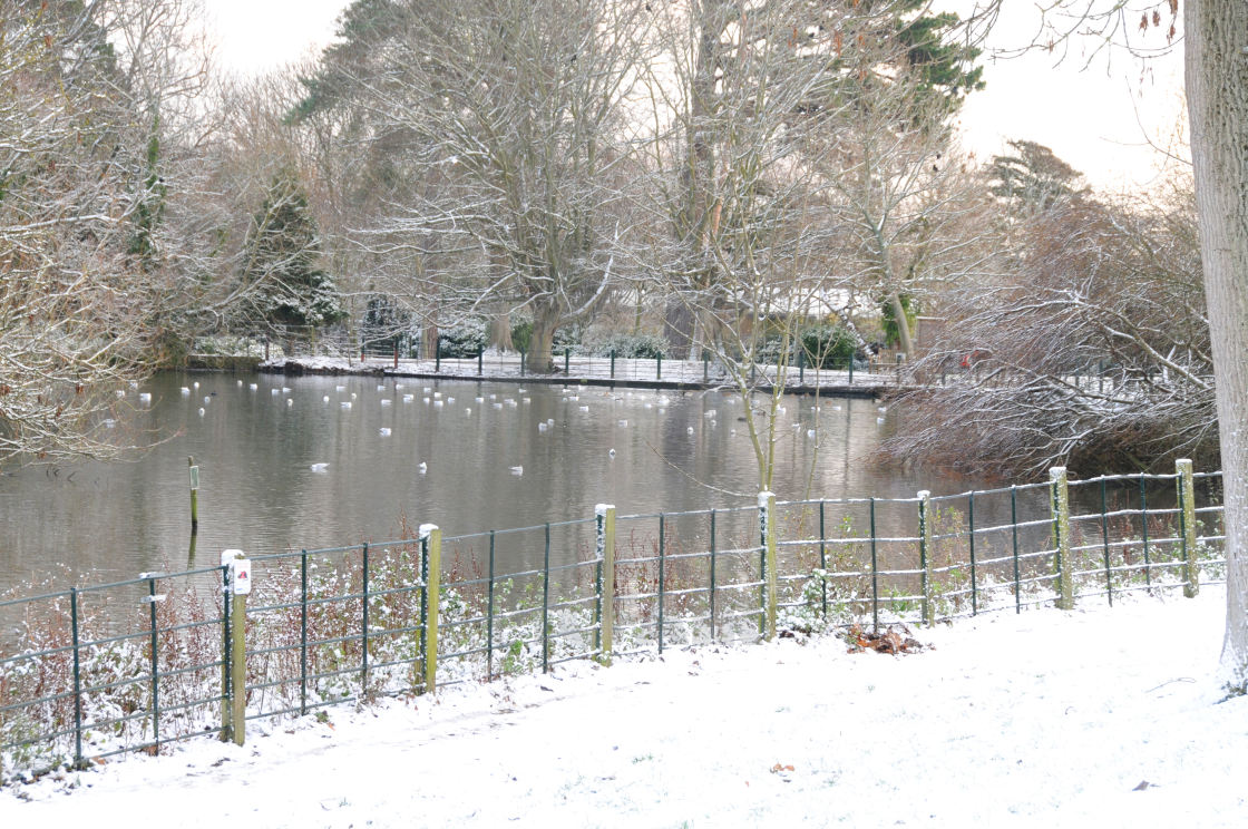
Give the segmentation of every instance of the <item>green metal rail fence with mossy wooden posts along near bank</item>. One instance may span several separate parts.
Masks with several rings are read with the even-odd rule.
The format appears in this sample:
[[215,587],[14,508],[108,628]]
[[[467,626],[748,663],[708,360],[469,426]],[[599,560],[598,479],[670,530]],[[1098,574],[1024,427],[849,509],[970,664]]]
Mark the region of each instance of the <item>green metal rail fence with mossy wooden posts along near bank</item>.
[[[1224,579],[1221,473],[593,518],[255,556],[0,602],[0,783],[347,700],[839,625]],[[1152,499],[1152,503],[1149,503]],[[230,561],[227,561],[230,559]],[[498,561],[522,562],[514,572]],[[241,564],[241,563],[238,563]],[[10,642],[2,639],[2,642]]]

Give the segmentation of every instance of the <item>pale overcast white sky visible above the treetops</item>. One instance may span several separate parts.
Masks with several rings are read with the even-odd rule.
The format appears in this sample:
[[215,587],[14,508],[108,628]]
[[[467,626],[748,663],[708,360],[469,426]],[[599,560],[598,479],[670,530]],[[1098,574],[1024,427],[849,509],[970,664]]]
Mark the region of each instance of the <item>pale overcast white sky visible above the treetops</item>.
[[[348,0],[206,0],[215,17],[218,61],[241,74],[263,72],[328,44]],[[1025,42],[1035,27],[1035,6],[1005,4],[995,45]],[[988,86],[971,95],[960,122],[963,145],[981,161],[1001,152],[1008,139],[1050,146],[1097,187],[1138,189],[1156,184],[1159,154],[1148,142],[1169,145],[1183,116],[1181,50],[1147,65],[1119,55],[1081,71],[1073,54],[1032,54],[986,60]],[[1164,172],[1162,175],[1166,175]]]

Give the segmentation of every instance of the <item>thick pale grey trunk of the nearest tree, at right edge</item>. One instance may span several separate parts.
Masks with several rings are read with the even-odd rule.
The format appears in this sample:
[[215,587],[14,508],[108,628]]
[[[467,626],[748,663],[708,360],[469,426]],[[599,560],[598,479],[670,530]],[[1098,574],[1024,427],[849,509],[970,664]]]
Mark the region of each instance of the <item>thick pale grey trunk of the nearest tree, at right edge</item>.
[[1248,2],[1187,0],[1188,114],[1226,504],[1222,670],[1248,690]]

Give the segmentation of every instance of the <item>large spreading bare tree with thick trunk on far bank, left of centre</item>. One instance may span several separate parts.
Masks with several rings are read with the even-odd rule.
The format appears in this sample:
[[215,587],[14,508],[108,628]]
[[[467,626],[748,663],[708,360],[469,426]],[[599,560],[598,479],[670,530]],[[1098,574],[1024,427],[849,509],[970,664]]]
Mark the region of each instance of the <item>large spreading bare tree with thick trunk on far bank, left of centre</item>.
[[407,182],[357,241],[409,265],[422,313],[525,310],[533,371],[613,285],[630,154],[619,104],[643,62],[645,5],[389,4],[383,47],[343,57],[305,106],[351,89],[328,105],[367,122],[361,140],[384,142]]

